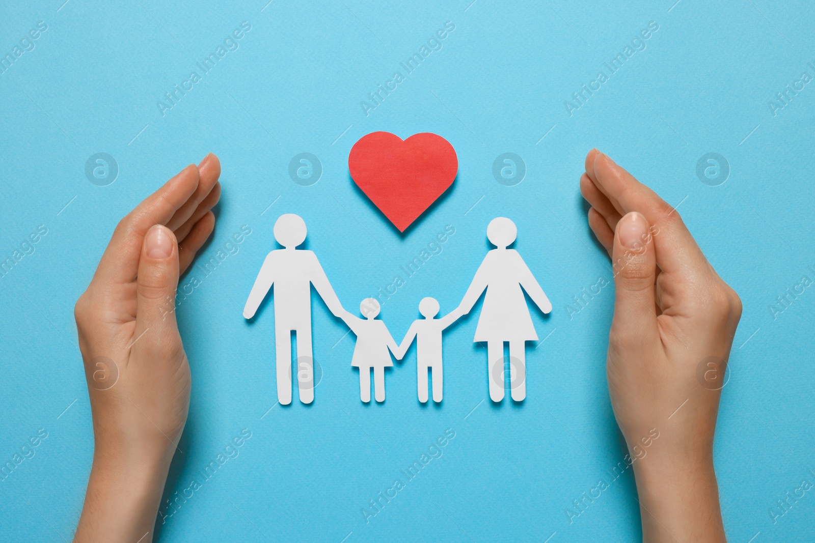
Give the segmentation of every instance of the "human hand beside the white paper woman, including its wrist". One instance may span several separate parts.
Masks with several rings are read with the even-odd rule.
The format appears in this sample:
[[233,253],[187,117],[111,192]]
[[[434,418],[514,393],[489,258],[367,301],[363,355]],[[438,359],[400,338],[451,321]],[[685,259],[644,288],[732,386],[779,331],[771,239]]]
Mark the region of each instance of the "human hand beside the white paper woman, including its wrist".
[[596,149],[585,170],[588,224],[614,269],[606,374],[643,539],[725,541],[713,435],[741,300],[653,190]]

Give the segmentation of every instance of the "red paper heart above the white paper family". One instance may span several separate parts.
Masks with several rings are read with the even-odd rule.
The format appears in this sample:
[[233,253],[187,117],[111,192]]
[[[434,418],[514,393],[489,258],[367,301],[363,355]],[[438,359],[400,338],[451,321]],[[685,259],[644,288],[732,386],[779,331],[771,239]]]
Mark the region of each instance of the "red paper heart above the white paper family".
[[400,232],[443,194],[458,172],[456,150],[425,132],[402,140],[390,132],[359,138],[348,155],[351,178]]

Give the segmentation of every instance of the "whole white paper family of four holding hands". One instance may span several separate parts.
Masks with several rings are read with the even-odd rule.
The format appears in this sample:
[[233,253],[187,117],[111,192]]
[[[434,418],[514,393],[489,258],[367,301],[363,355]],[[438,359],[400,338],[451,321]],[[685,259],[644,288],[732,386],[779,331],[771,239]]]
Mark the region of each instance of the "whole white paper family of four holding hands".
[[306,222],[292,213],[281,215],[275,222],[274,234],[284,248],[267,255],[244,308],[244,317],[252,318],[267,292],[274,287],[277,398],[280,404],[287,405],[292,401],[292,332],[296,335],[300,401],[308,404],[314,400],[311,285],[331,313],[341,317],[357,337],[351,366],[359,368],[359,398],[364,402],[371,401],[371,370],[374,396],[377,401],[385,401],[385,367],[394,365],[390,353],[401,360],[414,340],[419,401],[424,403],[428,399],[429,371],[433,375],[433,401],[442,401],[442,333],[459,317],[469,313],[486,290],[474,341],[487,343],[490,398],[496,402],[504,399],[504,343],[509,342],[509,357],[516,372],[511,395],[514,401],[522,401],[526,397],[526,341],[538,339],[523,291],[544,313],[552,310],[552,304],[521,255],[508,248],[517,233],[515,224],[508,218],[496,217],[490,221],[487,239],[496,248],[487,252],[458,307],[445,317],[435,318],[438,301],[430,297],[422,299],[419,313],[424,318],[414,321],[402,342],[397,344],[385,323],[376,318],[380,309],[377,300],[362,300],[359,311],[364,318],[343,309],[315,253],[297,249],[306,240]]

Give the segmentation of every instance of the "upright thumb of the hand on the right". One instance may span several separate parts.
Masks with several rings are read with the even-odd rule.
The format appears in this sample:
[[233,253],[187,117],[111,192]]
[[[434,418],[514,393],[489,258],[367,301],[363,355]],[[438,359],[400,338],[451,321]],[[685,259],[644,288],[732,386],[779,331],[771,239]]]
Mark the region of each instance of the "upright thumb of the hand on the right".
[[612,252],[615,282],[611,331],[618,339],[641,341],[656,334],[656,256],[647,219],[630,212],[617,222]]

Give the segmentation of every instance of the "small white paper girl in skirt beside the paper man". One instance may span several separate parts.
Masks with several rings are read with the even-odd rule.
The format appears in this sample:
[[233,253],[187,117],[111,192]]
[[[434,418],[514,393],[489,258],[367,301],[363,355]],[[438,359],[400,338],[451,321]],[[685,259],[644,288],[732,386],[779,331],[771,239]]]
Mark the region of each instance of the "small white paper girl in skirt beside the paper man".
[[385,368],[394,365],[388,349],[394,354],[399,351],[385,323],[376,318],[379,309],[376,299],[366,298],[359,304],[359,313],[365,318],[355,317],[347,311],[343,315],[346,324],[357,336],[351,366],[359,368],[359,399],[366,403],[371,401],[371,370],[374,396],[377,401],[385,401]]

